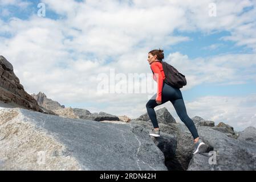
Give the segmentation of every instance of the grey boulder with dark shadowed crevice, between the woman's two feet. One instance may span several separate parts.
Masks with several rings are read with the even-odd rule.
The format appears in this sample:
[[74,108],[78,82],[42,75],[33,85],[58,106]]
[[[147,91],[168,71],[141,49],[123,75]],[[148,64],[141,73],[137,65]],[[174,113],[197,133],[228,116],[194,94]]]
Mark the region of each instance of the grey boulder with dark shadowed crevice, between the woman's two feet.
[[[148,121],[131,121],[144,127],[148,132],[153,128]],[[193,156],[193,137],[184,123],[159,123],[160,138],[153,138],[165,155],[165,166],[169,170],[184,171]]]

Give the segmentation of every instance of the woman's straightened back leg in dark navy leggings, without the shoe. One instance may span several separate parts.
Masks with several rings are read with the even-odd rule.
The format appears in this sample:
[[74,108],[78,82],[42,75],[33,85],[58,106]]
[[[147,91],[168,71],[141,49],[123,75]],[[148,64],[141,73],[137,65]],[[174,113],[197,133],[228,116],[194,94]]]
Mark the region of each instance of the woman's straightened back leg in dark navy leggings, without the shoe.
[[194,126],[194,122],[192,121],[192,119],[189,118],[188,114],[186,113],[186,107],[183,98],[171,100],[170,102],[172,102],[176,113],[178,114],[178,117],[180,117],[181,121],[185,123],[186,127],[188,127],[193,138],[198,138],[196,126]]

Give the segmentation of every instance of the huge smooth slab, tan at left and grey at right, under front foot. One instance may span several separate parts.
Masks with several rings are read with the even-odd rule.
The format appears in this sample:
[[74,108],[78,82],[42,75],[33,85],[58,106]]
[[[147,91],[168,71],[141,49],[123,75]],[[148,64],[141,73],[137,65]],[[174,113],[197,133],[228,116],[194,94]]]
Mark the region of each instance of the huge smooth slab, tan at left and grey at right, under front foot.
[[0,134],[0,170],[167,169],[148,132],[131,123],[1,109]]

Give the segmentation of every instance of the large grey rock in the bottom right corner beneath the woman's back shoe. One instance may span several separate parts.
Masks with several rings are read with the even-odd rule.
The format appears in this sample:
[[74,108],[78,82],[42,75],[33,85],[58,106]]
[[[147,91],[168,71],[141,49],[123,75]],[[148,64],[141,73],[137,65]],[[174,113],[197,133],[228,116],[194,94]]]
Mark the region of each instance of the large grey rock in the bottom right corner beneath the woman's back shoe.
[[256,144],[229,138],[211,127],[198,127],[198,134],[216,152],[216,163],[204,154],[193,155],[188,170],[256,170]]

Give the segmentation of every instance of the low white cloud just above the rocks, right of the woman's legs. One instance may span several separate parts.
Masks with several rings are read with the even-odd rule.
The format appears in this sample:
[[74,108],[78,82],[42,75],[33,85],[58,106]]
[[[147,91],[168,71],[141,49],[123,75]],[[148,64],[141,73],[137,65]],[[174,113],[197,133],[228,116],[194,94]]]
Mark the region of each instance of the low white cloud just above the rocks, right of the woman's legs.
[[[197,101],[187,102],[189,115],[198,115],[206,120],[227,123],[235,130],[241,131],[249,126],[256,127],[256,95],[243,97],[200,97]],[[202,109],[204,108],[204,109]]]

